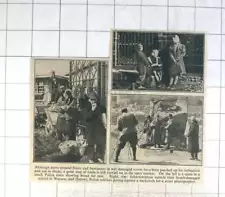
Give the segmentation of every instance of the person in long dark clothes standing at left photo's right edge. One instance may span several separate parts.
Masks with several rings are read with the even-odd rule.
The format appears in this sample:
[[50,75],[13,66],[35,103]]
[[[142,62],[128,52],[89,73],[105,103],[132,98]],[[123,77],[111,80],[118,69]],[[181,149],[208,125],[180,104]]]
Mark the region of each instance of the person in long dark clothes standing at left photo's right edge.
[[106,109],[97,100],[95,92],[89,95],[91,109],[86,114],[87,143],[91,150],[90,163],[104,162],[106,147]]

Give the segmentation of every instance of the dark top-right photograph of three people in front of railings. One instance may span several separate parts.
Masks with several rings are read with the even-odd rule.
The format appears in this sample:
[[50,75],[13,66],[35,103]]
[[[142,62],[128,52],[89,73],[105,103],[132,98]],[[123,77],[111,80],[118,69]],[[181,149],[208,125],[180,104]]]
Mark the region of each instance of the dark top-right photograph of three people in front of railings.
[[205,36],[112,30],[113,90],[204,92]]

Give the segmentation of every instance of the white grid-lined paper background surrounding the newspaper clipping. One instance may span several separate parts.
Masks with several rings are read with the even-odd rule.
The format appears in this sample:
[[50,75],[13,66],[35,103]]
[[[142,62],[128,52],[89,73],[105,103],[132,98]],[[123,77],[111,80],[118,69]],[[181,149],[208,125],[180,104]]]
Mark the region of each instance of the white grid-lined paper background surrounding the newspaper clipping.
[[[30,183],[31,56],[108,57],[109,29],[205,31],[202,185]],[[0,0],[1,197],[225,197],[225,0]]]

